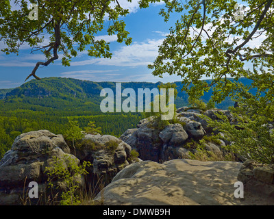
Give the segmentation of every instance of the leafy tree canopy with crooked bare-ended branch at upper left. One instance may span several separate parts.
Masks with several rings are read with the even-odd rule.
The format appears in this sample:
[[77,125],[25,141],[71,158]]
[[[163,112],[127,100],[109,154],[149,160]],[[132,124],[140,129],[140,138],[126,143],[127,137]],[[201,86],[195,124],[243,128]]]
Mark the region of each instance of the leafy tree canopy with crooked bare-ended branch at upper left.
[[[147,8],[149,3],[157,1],[160,0],[141,0],[139,5]],[[29,1],[14,0],[20,10],[12,10],[8,0],[0,1],[0,40],[6,46],[1,51],[18,54],[23,44],[29,44],[32,53],[42,51],[47,59],[37,62],[27,79],[31,76],[40,79],[36,76],[39,66],[58,60],[60,53],[62,64],[69,66],[71,58],[86,50],[86,46],[92,57],[111,57],[108,42],[95,38],[103,29],[110,36],[116,34],[117,42],[127,45],[132,42],[121,19],[129,10],[122,8],[119,0],[33,0],[32,3],[38,5],[38,19],[33,21],[29,19],[32,12]],[[47,35],[49,40],[45,40]]]

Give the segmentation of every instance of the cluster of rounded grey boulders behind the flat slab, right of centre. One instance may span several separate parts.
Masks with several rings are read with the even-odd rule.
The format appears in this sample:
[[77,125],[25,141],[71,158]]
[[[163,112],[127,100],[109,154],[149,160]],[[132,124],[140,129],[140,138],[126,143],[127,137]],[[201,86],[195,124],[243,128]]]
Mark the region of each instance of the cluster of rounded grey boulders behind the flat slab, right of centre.
[[[181,107],[177,110],[177,123],[166,125],[163,129],[155,128],[153,116],[140,120],[136,129],[128,129],[119,138],[140,154],[142,160],[162,162],[176,158],[190,158],[190,152],[195,153],[195,148],[190,148],[187,143],[199,142],[204,136],[213,134],[212,127],[203,118],[203,115],[212,120],[219,119],[215,113],[227,116],[233,122],[233,116],[229,110],[201,110]],[[214,132],[216,134],[217,131]],[[218,143],[219,142],[219,143]],[[223,144],[230,142],[219,140],[206,142],[206,150],[214,153],[220,159],[224,156],[221,150]]]

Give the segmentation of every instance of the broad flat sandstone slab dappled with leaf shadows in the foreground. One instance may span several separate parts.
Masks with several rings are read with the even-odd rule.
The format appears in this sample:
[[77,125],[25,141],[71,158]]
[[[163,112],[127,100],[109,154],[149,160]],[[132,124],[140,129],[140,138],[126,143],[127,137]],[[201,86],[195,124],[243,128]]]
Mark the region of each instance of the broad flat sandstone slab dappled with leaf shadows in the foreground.
[[103,197],[104,205],[254,205],[234,197],[241,166],[192,159],[138,162],[121,170],[95,199]]

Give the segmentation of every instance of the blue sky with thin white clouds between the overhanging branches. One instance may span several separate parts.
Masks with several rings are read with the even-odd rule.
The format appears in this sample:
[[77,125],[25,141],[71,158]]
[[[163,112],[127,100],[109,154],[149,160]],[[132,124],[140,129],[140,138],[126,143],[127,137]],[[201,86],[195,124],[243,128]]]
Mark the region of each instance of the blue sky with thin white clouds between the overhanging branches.
[[[155,77],[147,68],[158,55],[158,46],[164,40],[165,34],[175,23],[179,15],[174,15],[169,23],[158,13],[164,4],[157,3],[147,9],[138,9],[138,1],[132,3],[121,1],[124,7],[131,12],[124,18],[127,31],[132,37],[132,44],[116,42],[116,36],[108,36],[106,32],[98,34],[110,42],[112,59],[95,59],[85,52],[73,58],[71,66],[62,66],[60,59],[45,67],[38,68],[36,75],[39,77],[72,77],[90,81],[179,81],[180,77],[164,75],[164,78]],[[3,42],[0,42],[3,48]],[[32,72],[36,62],[45,61],[39,52],[30,53],[31,49],[24,45],[18,56],[5,55],[0,52],[0,88],[15,88],[24,83],[25,78]],[[30,79],[29,79],[30,80]]]

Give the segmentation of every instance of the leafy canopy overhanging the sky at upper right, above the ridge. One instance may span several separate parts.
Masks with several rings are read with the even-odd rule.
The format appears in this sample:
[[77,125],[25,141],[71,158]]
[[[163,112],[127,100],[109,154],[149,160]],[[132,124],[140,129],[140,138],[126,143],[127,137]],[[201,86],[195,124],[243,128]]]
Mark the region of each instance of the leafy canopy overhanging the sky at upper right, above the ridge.
[[[273,81],[272,0],[242,1],[241,8],[237,1],[165,2],[160,12],[165,21],[175,12],[182,16],[149,65],[153,75],[181,76],[184,90],[195,97],[214,87],[217,102],[239,89],[234,82],[240,77],[254,79],[267,73]],[[201,80],[205,77],[212,78],[212,83]]]

